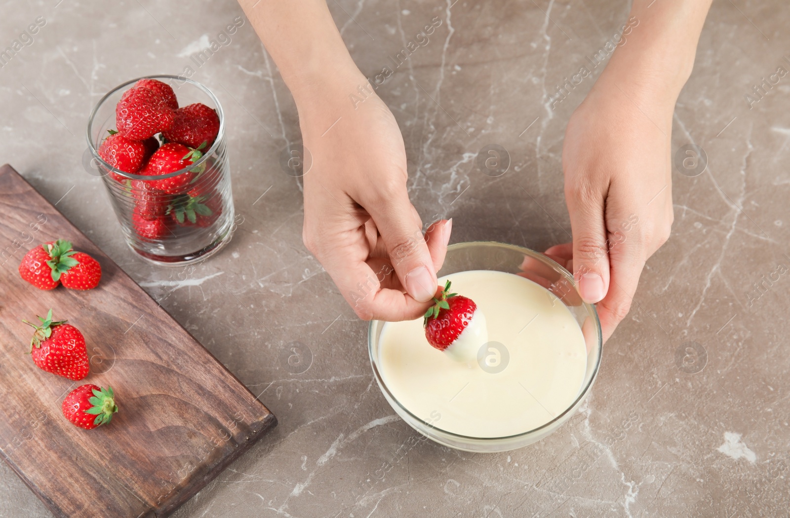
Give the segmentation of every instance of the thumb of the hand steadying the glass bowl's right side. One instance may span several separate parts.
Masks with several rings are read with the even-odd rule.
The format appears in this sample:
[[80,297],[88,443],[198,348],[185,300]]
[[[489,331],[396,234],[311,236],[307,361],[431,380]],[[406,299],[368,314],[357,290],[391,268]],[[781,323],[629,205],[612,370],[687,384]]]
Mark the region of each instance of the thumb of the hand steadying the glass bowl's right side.
[[609,289],[609,253],[604,223],[604,199],[569,204],[570,228],[574,238],[574,279],[579,295],[594,304]]

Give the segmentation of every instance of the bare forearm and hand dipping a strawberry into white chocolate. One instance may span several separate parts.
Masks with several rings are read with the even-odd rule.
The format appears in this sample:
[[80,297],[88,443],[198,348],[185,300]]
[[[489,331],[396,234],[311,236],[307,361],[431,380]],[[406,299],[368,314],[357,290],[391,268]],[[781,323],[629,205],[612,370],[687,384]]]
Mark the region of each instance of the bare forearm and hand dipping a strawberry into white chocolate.
[[294,96],[313,159],[305,245],[359,317],[419,317],[436,292],[450,224],[434,223],[423,237],[393,114],[355,66],[324,0],[239,3]]

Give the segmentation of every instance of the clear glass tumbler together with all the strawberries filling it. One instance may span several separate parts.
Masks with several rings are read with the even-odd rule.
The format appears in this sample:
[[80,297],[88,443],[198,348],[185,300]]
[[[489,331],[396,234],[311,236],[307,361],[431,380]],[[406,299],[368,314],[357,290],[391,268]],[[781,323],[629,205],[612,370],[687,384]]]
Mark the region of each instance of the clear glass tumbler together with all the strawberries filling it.
[[93,109],[88,148],[126,242],[141,257],[183,265],[231,239],[223,113],[202,84],[176,76],[121,84]]

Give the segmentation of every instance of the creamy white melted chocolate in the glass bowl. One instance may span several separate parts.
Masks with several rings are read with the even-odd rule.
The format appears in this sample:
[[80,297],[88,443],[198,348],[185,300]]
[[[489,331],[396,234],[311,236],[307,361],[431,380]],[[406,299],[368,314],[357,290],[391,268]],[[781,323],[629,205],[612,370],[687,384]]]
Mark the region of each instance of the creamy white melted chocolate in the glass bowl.
[[[587,363],[570,310],[544,287],[510,273],[458,272],[439,283],[446,280],[475,301],[485,322],[453,343],[461,347],[450,354],[431,347],[422,318],[387,322],[378,366],[401,405],[439,429],[468,437],[522,434],[570,407]],[[485,328],[487,340],[480,334]]]

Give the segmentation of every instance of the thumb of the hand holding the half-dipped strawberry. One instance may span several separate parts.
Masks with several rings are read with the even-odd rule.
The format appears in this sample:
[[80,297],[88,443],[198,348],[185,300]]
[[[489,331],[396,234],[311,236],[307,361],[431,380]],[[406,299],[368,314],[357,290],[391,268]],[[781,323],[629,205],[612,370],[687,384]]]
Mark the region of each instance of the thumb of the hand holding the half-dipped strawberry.
[[417,302],[431,300],[438,283],[436,270],[423,237],[422,222],[408,194],[404,190],[395,201],[371,205],[367,211],[382,235],[401,286]]

